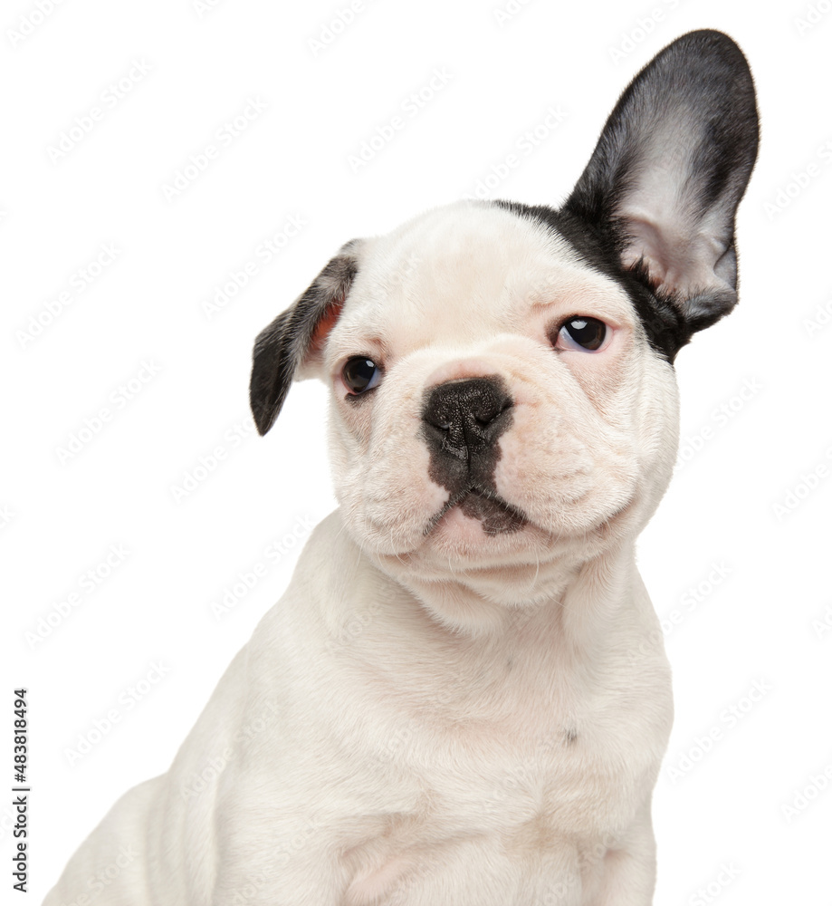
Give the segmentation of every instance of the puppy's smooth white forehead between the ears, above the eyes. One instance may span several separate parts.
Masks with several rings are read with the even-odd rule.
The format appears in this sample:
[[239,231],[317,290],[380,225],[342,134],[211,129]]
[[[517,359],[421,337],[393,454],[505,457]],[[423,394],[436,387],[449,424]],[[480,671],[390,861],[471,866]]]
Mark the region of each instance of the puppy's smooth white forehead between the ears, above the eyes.
[[370,240],[338,333],[387,342],[475,340],[520,327],[535,306],[631,323],[626,293],[569,241],[502,207],[460,202]]

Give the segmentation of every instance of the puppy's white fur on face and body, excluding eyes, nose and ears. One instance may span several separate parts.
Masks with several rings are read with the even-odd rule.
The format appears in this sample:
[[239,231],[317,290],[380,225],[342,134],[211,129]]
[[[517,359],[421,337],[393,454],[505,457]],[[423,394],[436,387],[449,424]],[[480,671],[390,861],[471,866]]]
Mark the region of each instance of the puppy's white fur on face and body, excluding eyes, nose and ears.
[[[307,366],[332,390],[340,508],[171,769],[113,807],[48,906],[81,906],[124,846],[97,906],[652,899],[672,703],[634,544],[674,461],[673,371],[617,284],[502,208],[440,208],[358,254]],[[612,328],[601,352],[552,349],[578,314]],[[357,353],[385,373],[356,405]],[[448,494],[425,390],[494,374],[514,400],[496,487],[530,525],[485,535],[454,509],[426,534]]]

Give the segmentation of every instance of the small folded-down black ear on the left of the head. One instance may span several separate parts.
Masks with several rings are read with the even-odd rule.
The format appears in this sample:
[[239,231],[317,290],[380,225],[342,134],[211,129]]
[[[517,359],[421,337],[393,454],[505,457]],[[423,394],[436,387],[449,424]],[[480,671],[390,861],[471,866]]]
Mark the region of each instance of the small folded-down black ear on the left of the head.
[[301,364],[320,353],[338,320],[349,287],[358,273],[360,241],[341,246],[291,307],[279,314],[254,341],[249,388],[254,423],[265,434],[277,418]]

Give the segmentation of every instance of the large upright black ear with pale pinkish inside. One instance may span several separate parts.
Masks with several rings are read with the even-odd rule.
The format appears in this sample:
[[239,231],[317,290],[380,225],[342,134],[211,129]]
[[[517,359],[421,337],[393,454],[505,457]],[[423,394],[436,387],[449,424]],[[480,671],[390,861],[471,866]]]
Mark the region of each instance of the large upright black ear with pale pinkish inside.
[[740,48],[721,32],[684,34],[621,95],[564,207],[672,313],[676,347],[737,302],[734,217],[757,144]]

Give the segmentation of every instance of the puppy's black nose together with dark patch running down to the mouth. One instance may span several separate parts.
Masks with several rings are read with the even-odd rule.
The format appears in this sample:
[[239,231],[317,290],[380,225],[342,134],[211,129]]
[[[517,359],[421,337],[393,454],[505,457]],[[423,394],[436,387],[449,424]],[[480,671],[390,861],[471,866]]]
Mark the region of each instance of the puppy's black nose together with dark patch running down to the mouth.
[[479,519],[486,535],[516,532],[525,524],[525,516],[497,494],[494,482],[500,459],[497,441],[511,424],[512,398],[497,375],[446,381],[425,391],[427,474],[449,494],[432,525],[454,506]]

